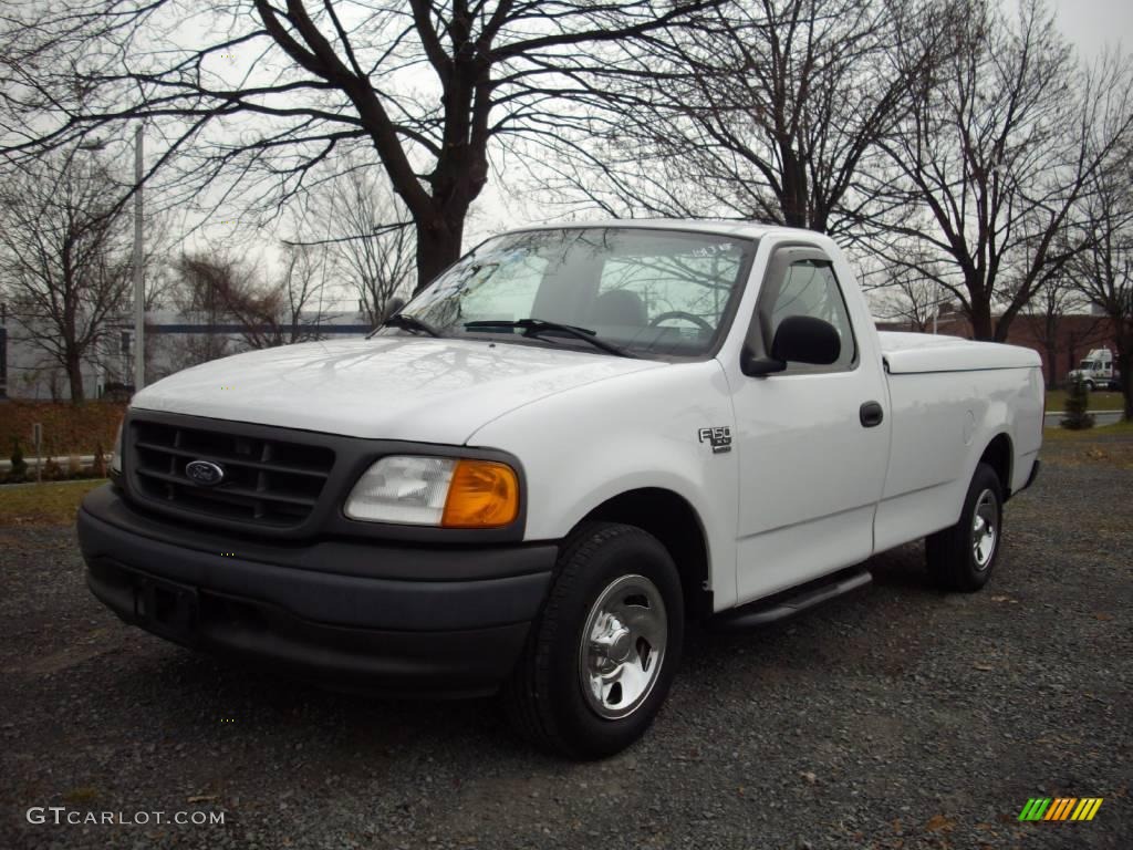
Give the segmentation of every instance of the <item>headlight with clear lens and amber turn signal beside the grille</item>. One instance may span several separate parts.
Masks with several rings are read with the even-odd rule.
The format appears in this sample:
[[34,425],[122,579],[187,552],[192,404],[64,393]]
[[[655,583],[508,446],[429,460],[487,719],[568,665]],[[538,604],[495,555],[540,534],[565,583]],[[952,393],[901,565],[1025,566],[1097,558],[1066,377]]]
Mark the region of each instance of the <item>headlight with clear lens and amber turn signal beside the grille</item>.
[[382,458],[355,484],[350,519],[442,528],[499,528],[519,516],[519,478],[491,460]]

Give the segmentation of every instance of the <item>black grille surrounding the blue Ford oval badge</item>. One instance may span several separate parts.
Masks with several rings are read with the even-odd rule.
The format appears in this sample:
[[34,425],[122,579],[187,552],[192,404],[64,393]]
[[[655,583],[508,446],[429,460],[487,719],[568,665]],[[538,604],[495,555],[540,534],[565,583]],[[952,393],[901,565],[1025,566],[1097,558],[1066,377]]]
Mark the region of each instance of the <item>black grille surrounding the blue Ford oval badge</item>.
[[[334,452],[323,445],[258,434],[134,419],[131,478],[145,499],[196,515],[257,526],[301,524],[323,492]],[[194,483],[194,460],[224,470],[215,486]]]

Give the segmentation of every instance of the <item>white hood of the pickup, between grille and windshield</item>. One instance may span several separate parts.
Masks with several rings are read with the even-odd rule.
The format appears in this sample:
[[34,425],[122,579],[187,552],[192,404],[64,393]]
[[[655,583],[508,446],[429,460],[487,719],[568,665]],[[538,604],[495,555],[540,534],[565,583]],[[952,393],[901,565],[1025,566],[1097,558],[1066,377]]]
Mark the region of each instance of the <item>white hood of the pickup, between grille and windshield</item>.
[[462,444],[509,410],[664,365],[510,342],[375,337],[212,360],[147,386],[131,408]]

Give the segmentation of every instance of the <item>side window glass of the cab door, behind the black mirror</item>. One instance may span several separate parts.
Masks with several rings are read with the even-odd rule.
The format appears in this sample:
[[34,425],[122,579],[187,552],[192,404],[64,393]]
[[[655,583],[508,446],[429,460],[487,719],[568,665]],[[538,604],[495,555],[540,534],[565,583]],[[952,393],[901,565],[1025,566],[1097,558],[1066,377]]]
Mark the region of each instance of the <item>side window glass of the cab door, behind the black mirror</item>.
[[[777,286],[775,283],[777,282]],[[842,352],[829,366],[789,364],[787,372],[844,372],[858,362],[858,346],[850,323],[842,289],[828,262],[799,260],[787,265],[783,277],[760,298],[760,320],[765,345],[770,348],[780,324],[789,316],[812,316],[834,326],[842,340]]]

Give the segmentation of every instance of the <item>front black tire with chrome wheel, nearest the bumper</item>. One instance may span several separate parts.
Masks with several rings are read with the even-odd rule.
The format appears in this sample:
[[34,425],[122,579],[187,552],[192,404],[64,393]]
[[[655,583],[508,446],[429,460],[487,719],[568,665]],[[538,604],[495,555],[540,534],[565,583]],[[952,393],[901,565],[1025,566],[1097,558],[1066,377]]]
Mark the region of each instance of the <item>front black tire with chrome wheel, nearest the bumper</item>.
[[664,703],[683,637],[667,550],[636,526],[583,524],[563,545],[546,606],[504,687],[512,724],[571,758],[619,753]]

